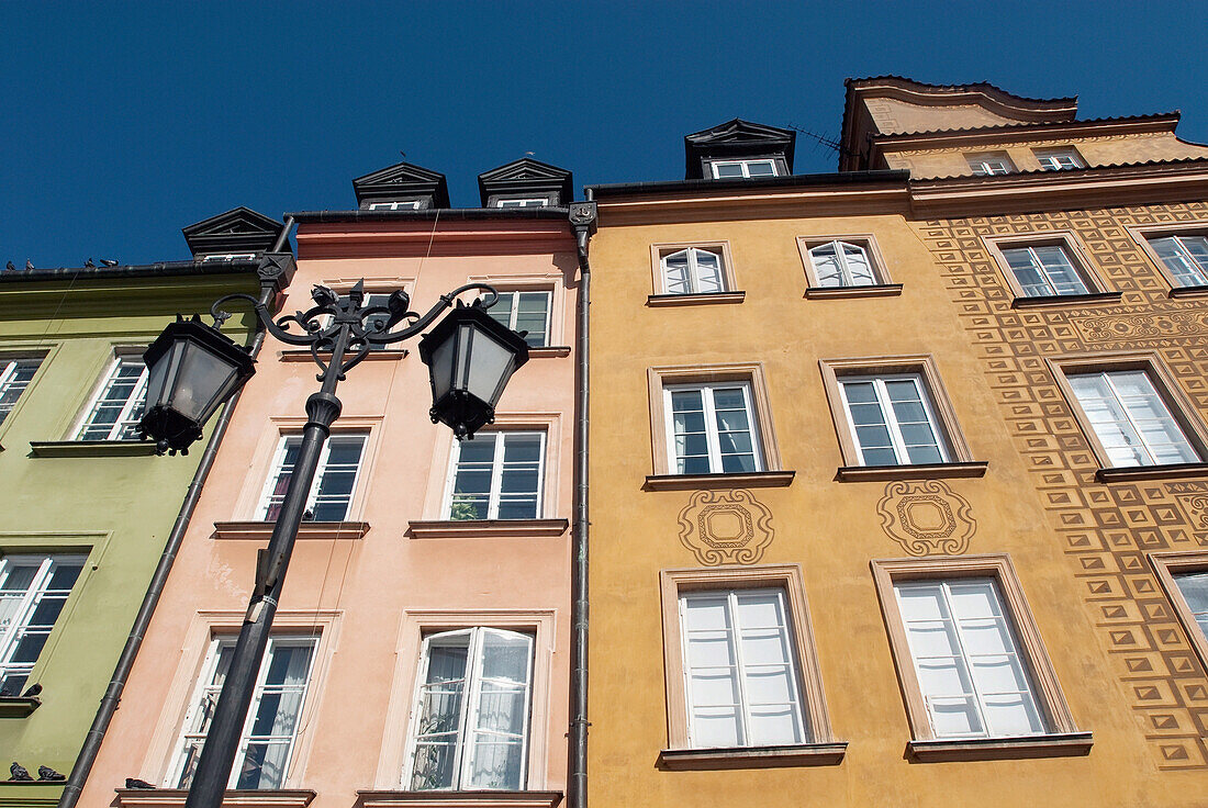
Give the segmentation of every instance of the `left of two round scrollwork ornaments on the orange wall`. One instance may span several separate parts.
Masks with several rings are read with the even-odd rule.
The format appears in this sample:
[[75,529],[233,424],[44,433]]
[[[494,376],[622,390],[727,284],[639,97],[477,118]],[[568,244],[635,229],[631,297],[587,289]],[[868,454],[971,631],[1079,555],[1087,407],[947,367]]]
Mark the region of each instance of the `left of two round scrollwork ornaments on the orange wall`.
[[772,543],[772,512],[748,490],[699,490],[680,511],[680,543],[705,566],[754,564]]

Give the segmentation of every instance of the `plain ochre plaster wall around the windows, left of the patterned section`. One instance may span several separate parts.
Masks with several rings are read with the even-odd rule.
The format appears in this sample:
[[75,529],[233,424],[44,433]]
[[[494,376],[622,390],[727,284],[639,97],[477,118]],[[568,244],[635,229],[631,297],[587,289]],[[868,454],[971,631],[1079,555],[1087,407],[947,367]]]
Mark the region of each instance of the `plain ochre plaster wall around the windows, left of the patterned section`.
[[[1158,771],[1136,696],[1097,629],[1102,615],[1085,601],[1032,460],[1004,418],[997,377],[970,326],[981,309],[965,308],[968,281],[941,272],[954,260],[943,239],[924,242],[923,223],[901,215],[742,221],[736,209],[627,226],[610,213],[603,200],[592,240],[592,803],[1201,804],[1202,771]],[[842,234],[873,234],[900,296],[803,298],[796,237]],[[651,244],[693,240],[730,243],[743,302],[647,307]],[[978,277],[992,285],[992,273],[985,267]],[[836,481],[843,460],[818,365],[905,354],[934,356],[974,459],[989,464],[983,478],[946,481],[976,522],[968,552],[1011,556],[1074,721],[1093,732],[1088,756],[918,763],[906,754],[911,731],[869,566],[906,553],[882,529],[877,504],[887,483]],[[774,530],[756,563],[802,565],[830,722],[849,742],[838,766],[658,763],[668,745],[658,574],[699,563],[680,541],[692,492],[644,490],[652,440],[662,440],[651,435],[647,368],[727,362],[763,364],[783,467],[796,472],[788,487],[749,492],[771,511]]]

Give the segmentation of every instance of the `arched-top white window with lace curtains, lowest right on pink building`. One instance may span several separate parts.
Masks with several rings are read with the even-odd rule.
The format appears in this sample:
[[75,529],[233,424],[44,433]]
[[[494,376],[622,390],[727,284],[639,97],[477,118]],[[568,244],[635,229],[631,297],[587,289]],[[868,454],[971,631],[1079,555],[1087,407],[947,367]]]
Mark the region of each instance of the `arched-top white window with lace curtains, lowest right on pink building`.
[[406,787],[524,789],[533,635],[496,628],[431,634],[417,680]]

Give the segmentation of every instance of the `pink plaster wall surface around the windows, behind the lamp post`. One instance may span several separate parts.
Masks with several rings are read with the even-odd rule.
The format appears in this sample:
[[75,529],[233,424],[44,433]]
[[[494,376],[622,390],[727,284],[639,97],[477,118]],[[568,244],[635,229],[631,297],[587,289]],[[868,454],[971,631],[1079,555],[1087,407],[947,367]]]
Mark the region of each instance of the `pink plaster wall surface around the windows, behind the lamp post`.
[[[303,225],[297,240],[285,312],[308,308],[313,284],[339,289],[358,278],[370,291],[405,285],[419,310],[471,278],[553,290],[551,344],[571,349],[530,359],[499,412],[548,429],[541,516],[569,521],[576,262],[567,222],[451,222],[435,233],[430,221]],[[368,533],[300,540],[289,570],[278,626],[314,624],[324,638],[285,787],[318,791],[316,808],[348,808],[358,790],[399,789],[422,627],[478,612],[465,624],[494,624],[496,615],[499,624],[541,626],[528,787],[563,790],[569,529],[541,537],[408,535],[408,521],[440,518],[452,436],[430,423],[426,368],[416,342],[405,347],[403,359],[362,362],[337,393],[344,405],[337,429],[372,432],[349,513]],[[256,550],[266,542],[214,537],[215,523],[254,518],[279,429],[301,425],[303,401],[316,389],[314,365],[281,361],[284,348],[269,338],[260,354],[85,789],[88,808],[112,804],[127,777],[165,784],[210,626],[237,627],[246,606]]]

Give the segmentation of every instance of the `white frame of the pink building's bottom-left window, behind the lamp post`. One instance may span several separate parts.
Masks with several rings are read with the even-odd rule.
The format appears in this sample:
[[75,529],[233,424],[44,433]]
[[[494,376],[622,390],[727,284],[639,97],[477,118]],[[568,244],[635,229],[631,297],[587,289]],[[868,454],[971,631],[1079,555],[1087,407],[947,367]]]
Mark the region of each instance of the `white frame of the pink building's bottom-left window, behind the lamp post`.
[[[181,723],[180,732],[178,733],[179,738],[176,742],[176,754],[173,756],[172,767],[168,769],[168,780],[164,783],[165,787],[174,789],[180,785],[180,778],[185,774],[184,769],[187,762],[190,736],[199,734],[190,732],[190,728],[196,721],[198,710],[203,707],[202,699],[205,691],[214,688],[213,681],[219,663],[219,652],[223,646],[233,646],[236,640],[237,635],[230,634],[217,635],[210,640],[209,649],[205,653],[205,661],[202,664],[201,673],[197,676],[197,681],[188,702],[188,710],[185,713],[185,720]],[[236,762],[231,768],[231,777],[227,780],[228,789],[234,789],[236,784],[239,781],[240,763],[248,754],[248,745],[251,743],[251,727],[256,720],[256,711],[260,707],[260,702],[265,696],[265,682],[268,679],[268,668],[273,659],[273,650],[280,645],[309,645],[310,661],[306,672],[306,686],[302,690],[302,698],[298,703],[297,720],[294,723],[294,732],[290,736],[289,752],[285,755],[285,765],[281,768],[281,783],[277,786],[278,789],[285,787],[285,784],[289,781],[290,767],[294,765],[294,754],[297,751],[298,729],[302,726],[302,716],[306,715],[307,701],[310,697],[310,682],[314,678],[316,657],[319,656],[319,640],[320,636],[318,633],[273,634],[268,638],[268,647],[265,650],[265,657],[260,663],[260,669],[256,672],[256,682],[252,690],[251,705],[248,708],[248,717],[244,720],[243,729],[239,733],[239,748],[236,752]]]

